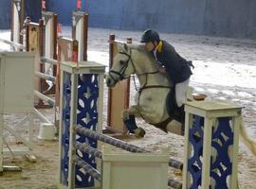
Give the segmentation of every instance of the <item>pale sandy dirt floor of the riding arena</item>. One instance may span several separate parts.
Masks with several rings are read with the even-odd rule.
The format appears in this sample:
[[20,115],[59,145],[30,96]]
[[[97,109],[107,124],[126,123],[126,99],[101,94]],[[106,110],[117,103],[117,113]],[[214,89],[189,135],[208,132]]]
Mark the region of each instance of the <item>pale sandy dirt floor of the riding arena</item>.
[[[64,35],[69,36],[70,28],[64,27]],[[2,31],[2,35],[3,32]],[[108,35],[116,34],[119,40],[132,37],[138,43],[141,32],[119,31],[101,28],[89,29],[88,54],[89,60],[98,60],[108,64]],[[0,32],[1,37],[1,32]],[[184,58],[193,60],[195,69],[191,79],[191,86],[196,93],[205,93],[209,99],[223,99],[233,101],[243,106],[244,125],[252,138],[256,138],[256,41],[213,38],[208,36],[161,34],[162,39],[172,43]],[[104,87],[103,127],[106,125],[107,89]],[[131,84],[131,96],[135,95],[134,84]],[[133,97],[131,97],[133,103]],[[47,118],[54,121],[54,110],[42,110]],[[10,114],[5,116],[5,124],[16,129],[22,136],[27,134],[26,127],[13,127],[23,115]],[[147,148],[158,149],[169,146],[170,157],[183,161],[184,137],[172,133],[164,133],[159,129],[137,119],[140,127],[146,130],[143,139],[129,139],[129,143]],[[24,157],[5,157],[5,164],[22,166],[22,172],[5,172],[0,177],[0,189],[55,189],[58,179],[58,141],[42,141],[37,138],[40,122],[34,120],[33,154],[36,163],[29,163]],[[19,142],[10,144],[22,146]],[[242,189],[256,189],[256,157],[247,147],[240,143],[239,148],[239,187]],[[170,177],[181,181],[178,171],[169,169]]]

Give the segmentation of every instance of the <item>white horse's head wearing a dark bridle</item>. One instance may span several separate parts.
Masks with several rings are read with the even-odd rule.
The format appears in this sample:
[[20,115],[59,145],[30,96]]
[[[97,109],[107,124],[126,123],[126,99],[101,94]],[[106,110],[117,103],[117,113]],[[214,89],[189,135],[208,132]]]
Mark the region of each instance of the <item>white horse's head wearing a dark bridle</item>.
[[132,48],[123,43],[118,44],[118,53],[114,57],[113,65],[106,75],[106,85],[114,87],[120,80],[130,77],[135,73],[135,65],[132,60]]

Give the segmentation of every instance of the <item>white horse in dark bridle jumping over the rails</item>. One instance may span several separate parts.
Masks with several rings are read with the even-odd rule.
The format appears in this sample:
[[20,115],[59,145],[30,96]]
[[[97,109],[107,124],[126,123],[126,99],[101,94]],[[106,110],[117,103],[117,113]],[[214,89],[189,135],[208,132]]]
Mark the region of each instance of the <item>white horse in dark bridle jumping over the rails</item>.
[[[113,66],[106,75],[108,87],[114,87],[120,80],[136,74],[140,84],[137,93],[137,105],[131,106],[122,112],[126,125],[134,129],[138,136],[145,134],[144,130],[137,128],[134,116],[141,116],[146,122],[164,131],[183,134],[183,125],[177,124],[174,117],[169,115],[166,99],[173,83],[165,74],[159,72],[160,65],[153,55],[145,49],[144,45],[118,44],[118,54],[114,58]],[[132,125],[132,126],[131,126]],[[242,140],[256,156],[256,143],[247,135],[247,129],[240,124]]]

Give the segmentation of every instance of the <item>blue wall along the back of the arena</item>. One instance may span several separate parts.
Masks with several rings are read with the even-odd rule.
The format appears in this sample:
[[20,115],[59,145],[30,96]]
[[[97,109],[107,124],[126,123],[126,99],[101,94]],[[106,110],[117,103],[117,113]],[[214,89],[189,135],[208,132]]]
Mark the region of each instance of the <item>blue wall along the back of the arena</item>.
[[[0,14],[7,1],[0,0]],[[71,26],[77,0],[46,2]],[[255,0],[82,0],[82,8],[90,14],[89,26],[256,39]],[[1,27],[6,18],[0,18]]]

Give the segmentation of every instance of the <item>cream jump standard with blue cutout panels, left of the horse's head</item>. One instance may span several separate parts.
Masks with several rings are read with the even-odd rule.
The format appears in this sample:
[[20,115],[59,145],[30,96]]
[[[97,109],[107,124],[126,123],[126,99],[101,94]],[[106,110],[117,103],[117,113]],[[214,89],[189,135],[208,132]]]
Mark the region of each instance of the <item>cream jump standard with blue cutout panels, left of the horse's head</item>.
[[76,133],[73,126],[101,132],[104,73],[105,66],[92,61],[61,63],[59,188],[95,186],[94,178],[76,163],[81,160],[96,169],[95,157],[76,150],[73,144],[97,148],[97,140]]

